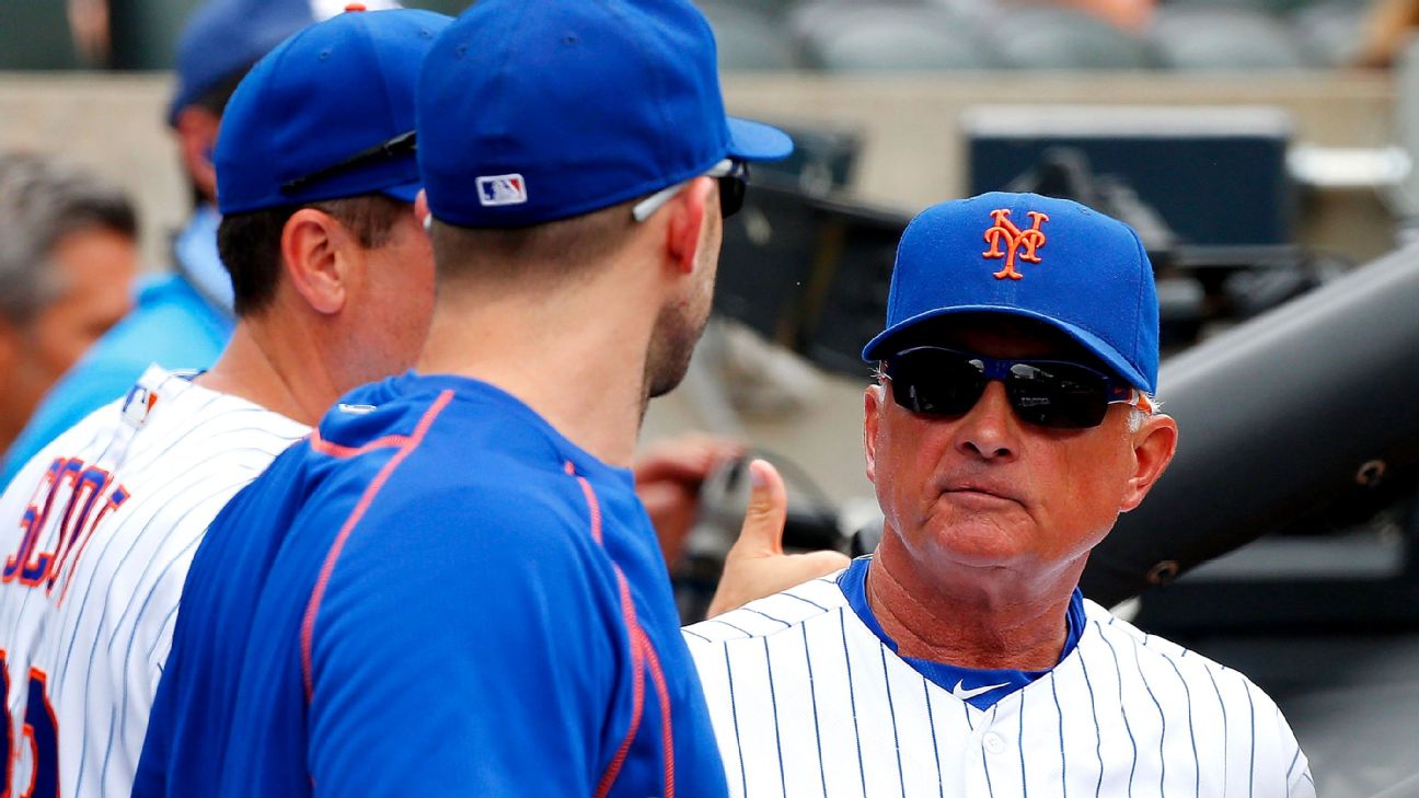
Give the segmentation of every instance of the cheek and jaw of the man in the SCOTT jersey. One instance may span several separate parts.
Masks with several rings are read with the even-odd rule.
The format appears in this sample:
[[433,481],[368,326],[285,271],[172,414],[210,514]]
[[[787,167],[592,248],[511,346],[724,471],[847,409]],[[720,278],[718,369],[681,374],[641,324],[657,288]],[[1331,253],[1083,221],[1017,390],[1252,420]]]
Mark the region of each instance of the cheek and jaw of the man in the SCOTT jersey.
[[429,234],[413,206],[389,231],[382,246],[365,250],[360,297],[349,339],[353,385],[383,379],[413,366],[429,335],[434,308],[434,256]]

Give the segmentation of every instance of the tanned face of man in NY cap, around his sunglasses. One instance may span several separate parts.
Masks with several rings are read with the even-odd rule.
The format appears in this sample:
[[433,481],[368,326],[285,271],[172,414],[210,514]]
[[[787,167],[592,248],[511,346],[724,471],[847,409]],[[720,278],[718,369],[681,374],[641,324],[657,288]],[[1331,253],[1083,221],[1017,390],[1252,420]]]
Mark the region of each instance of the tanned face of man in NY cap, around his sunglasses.
[[[998,317],[971,317],[924,342],[995,358],[1093,362],[1061,334]],[[1112,405],[1101,426],[1081,430],[1033,426],[1010,409],[1005,386],[990,382],[975,408],[942,419],[900,408],[890,388],[868,388],[867,470],[885,534],[900,537],[929,572],[1081,567],[1120,510],[1141,500],[1128,413]]]

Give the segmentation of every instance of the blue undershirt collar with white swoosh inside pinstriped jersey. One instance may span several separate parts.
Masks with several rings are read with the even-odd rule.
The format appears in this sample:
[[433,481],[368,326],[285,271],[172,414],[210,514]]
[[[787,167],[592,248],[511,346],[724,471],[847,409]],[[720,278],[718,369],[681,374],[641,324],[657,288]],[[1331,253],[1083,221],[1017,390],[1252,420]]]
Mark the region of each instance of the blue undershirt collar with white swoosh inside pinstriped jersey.
[[[867,603],[867,569],[871,567],[871,557],[854,559],[847,567],[847,571],[843,571],[837,578],[837,585],[841,588],[843,595],[847,596],[847,605],[853,608],[853,612],[857,613],[863,625],[871,629],[873,635],[877,635],[877,639],[891,649],[893,653],[897,653],[897,640],[893,640],[883,632],[881,625],[877,623],[877,616],[873,615]],[[1070,596],[1064,623],[1069,632],[1064,638],[1064,649],[1060,652],[1059,662],[1063,662],[1064,657],[1074,652],[1074,646],[1078,645],[1078,636],[1084,630],[1084,595],[1078,592],[1078,588],[1074,588],[1074,595]],[[956,667],[929,659],[897,656],[942,690],[979,710],[990,709],[1000,699],[1049,673],[1049,670],[976,670],[973,667]]]

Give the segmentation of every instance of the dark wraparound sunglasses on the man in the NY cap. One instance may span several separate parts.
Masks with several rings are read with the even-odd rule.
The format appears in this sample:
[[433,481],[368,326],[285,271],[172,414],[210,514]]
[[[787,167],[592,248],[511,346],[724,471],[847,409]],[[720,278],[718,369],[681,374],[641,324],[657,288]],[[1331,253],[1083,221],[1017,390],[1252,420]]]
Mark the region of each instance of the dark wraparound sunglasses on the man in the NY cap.
[[1131,385],[1086,365],[1047,359],[998,359],[941,346],[914,346],[887,361],[891,395],[924,416],[958,417],[975,408],[992,379],[1020,420],[1051,429],[1087,429],[1104,423],[1114,402],[1152,412]]

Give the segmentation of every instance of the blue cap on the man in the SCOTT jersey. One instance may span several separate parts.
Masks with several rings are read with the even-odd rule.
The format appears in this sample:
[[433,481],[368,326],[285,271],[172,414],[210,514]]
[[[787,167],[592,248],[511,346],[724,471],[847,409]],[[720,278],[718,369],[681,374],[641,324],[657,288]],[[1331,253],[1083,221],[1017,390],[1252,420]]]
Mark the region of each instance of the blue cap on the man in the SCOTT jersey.
[[433,11],[348,11],[258,61],[217,135],[221,213],[368,193],[414,202],[419,65],[450,21]]

